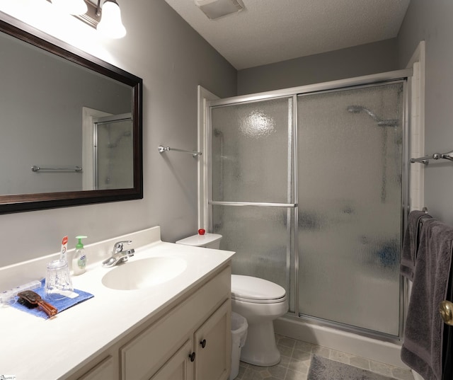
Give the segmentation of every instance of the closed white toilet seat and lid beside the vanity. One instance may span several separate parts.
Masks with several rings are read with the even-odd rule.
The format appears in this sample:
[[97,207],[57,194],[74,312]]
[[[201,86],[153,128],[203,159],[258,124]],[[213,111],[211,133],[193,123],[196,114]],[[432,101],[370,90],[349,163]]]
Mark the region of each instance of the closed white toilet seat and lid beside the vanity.
[[287,299],[286,291],[280,285],[243,275],[231,275],[231,298],[253,304],[277,304]]

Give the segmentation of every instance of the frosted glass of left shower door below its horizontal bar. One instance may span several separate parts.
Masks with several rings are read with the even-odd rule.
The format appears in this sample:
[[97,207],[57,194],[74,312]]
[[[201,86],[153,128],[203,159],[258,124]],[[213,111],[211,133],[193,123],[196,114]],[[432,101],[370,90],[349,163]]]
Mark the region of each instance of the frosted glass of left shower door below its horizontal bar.
[[216,205],[212,213],[214,233],[223,236],[220,248],[236,251],[232,272],[261,277],[287,289],[288,209]]

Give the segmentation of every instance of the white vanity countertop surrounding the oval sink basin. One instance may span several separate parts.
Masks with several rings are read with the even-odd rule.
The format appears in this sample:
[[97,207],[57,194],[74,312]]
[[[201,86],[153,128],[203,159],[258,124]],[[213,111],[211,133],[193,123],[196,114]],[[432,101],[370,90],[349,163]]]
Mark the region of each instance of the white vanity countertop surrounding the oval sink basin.
[[105,287],[101,279],[115,267],[104,268],[101,261],[88,262],[86,273],[72,277],[72,281],[74,289],[94,294],[92,299],[47,320],[0,306],[0,375],[16,375],[17,380],[64,379],[139,326],[144,318],[196,287],[234,255],[229,251],[164,243],[160,241],[160,230],[158,241],[141,247],[132,243],[127,248],[135,249],[130,262],[170,256],[184,258],[187,268],[178,277],[149,289],[113,290]]

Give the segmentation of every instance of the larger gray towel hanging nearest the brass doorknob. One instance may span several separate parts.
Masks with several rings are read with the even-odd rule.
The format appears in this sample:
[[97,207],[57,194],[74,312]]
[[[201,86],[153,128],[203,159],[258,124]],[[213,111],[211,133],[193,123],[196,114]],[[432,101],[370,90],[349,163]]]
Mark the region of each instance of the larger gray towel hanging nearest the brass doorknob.
[[442,376],[444,323],[438,309],[447,295],[452,248],[452,227],[435,219],[423,221],[401,359],[425,380]]

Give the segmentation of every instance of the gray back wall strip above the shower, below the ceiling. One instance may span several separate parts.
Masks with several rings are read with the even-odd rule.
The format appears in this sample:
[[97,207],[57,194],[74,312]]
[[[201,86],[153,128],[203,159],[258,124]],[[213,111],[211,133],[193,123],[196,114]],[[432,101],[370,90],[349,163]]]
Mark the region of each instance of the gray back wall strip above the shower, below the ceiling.
[[397,69],[396,38],[238,71],[238,95]]

